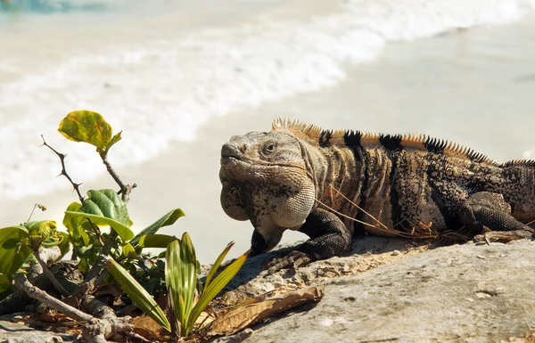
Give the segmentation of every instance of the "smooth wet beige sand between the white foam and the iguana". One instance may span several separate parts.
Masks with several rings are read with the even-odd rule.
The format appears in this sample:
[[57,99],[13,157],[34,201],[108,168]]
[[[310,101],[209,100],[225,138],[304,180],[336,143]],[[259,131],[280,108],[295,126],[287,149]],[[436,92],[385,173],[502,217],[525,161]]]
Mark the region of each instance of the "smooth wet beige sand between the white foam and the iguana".
[[[258,105],[243,104],[211,117],[187,142],[163,143],[159,151],[148,152],[149,159],[117,167],[125,182],[138,185],[129,202],[133,228],[141,230],[171,208],[182,208],[186,216],[162,232],[190,233],[202,263],[215,259],[228,241],[236,242],[230,256],[243,253],[249,248],[252,227],[227,217],[220,208],[220,147],[232,135],[268,131],[271,121],[279,116],[325,128],[433,135],[468,145],[498,161],[531,158],[535,155],[533,61],[535,15],[529,14],[507,25],[458,29],[437,37],[390,43],[373,61],[344,63],[342,79],[332,85]],[[106,117],[104,111],[103,115]],[[57,124],[45,123],[51,144],[62,142],[62,137],[53,133]],[[143,125],[143,121],[136,125]],[[152,135],[158,135],[157,123],[151,127]],[[114,124],[114,128],[124,131],[124,144],[135,141],[132,136],[128,138],[135,135],[128,126]],[[29,141],[35,146],[35,154],[48,154],[46,159],[50,161],[56,159],[51,151],[38,148],[38,143],[38,136]],[[62,152],[81,149],[84,154],[93,153],[79,143],[59,146]],[[111,155],[111,163],[134,152],[120,150]],[[78,156],[72,153],[67,167],[75,166]],[[93,159],[92,163],[98,161]],[[40,173],[38,165],[34,169]],[[84,182],[83,191],[116,187],[103,174],[90,181],[71,176],[76,182]],[[35,213],[33,219],[61,222],[62,211],[77,197],[70,192],[67,180],[48,182],[59,188],[1,200],[0,227],[27,220],[35,203],[45,204],[48,210]],[[300,233],[284,235],[285,242],[303,238]]]

